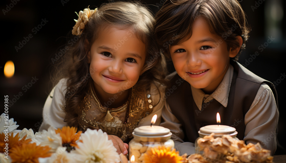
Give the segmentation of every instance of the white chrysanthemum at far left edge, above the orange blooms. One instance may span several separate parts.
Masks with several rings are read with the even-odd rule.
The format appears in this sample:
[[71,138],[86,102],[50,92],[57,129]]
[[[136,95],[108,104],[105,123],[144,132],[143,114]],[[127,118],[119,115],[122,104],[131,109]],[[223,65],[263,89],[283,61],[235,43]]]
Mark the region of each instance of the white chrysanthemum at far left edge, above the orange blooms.
[[[2,113],[0,116],[0,134],[5,133],[5,129],[8,128],[8,132],[9,134],[11,134],[12,132],[14,133],[14,135],[16,135],[18,132],[21,132],[21,130],[16,130],[17,127],[19,127],[19,125],[16,125],[17,122],[14,122],[13,118],[10,118],[8,120],[8,124],[5,123],[5,118],[9,119],[9,117],[7,118],[7,116],[5,117],[5,114]],[[4,127],[4,126],[9,126],[9,127]]]

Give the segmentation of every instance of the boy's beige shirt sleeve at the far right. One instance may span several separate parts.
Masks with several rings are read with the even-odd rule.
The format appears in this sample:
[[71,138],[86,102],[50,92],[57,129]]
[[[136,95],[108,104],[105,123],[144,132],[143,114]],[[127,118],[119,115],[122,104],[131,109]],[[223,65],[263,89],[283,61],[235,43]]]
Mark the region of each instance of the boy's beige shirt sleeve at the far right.
[[267,84],[262,84],[257,91],[249,111],[245,114],[246,144],[259,142],[265,149],[276,151],[276,129],[278,124],[278,108],[273,92]]

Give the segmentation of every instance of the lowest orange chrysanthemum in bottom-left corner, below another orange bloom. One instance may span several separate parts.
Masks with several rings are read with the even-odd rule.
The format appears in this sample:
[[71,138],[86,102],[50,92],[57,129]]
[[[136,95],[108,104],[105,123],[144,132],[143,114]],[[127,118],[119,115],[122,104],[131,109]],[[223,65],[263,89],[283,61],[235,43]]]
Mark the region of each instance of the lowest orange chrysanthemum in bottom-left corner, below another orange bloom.
[[13,147],[9,152],[12,162],[17,163],[39,163],[39,157],[50,157],[49,146],[37,146],[36,143],[23,144]]

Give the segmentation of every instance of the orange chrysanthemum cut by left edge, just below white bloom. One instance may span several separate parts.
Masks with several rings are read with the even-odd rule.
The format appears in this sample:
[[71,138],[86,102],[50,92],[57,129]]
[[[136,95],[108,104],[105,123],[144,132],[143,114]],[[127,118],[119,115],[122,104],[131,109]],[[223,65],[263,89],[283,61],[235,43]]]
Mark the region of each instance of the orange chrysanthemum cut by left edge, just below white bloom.
[[[8,143],[8,149],[11,149],[13,147],[16,146],[21,146],[22,144],[27,144],[29,142],[31,142],[31,139],[26,139],[27,135],[25,135],[20,141],[19,141],[19,133],[17,133],[15,135],[15,137],[13,136],[13,132],[11,133],[11,135],[8,134],[8,137],[5,136],[4,133],[0,134],[0,152],[5,152],[6,149],[4,149],[6,147],[6,143]],[[8,141],[7,141],[8,140]]]

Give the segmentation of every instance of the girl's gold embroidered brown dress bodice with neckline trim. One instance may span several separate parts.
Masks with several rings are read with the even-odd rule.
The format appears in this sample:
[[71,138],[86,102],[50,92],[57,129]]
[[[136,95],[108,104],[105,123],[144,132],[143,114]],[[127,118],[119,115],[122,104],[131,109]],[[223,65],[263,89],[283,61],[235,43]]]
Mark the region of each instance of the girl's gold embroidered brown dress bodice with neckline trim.
[[[108,111],[114,118],[111,122],[106,120]],[[78,118],[78,127],[85,131],[87,128],[101,129],[107,134],[115,135],[123,141],[132,138],[134,128],[139,121],[153,111],[150,94],[140,94],[132,87],[128,101],[118,108],[105,108],[100,104],[94,87],[84,97],[82,114]]]

